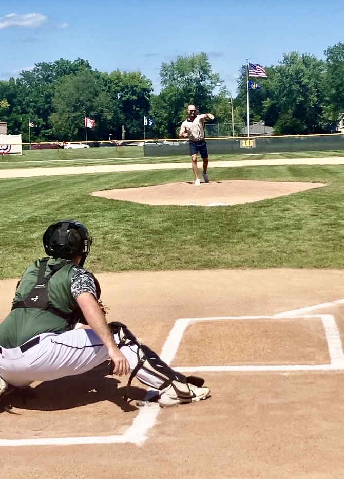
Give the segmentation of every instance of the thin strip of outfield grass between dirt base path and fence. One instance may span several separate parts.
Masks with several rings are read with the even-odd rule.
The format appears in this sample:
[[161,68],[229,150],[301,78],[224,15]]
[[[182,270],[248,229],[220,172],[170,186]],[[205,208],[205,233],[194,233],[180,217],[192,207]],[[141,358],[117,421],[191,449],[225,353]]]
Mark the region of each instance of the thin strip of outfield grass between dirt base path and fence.
[[[159,147],[157,147],[159,148]],[[117,150],[116,153],[114,150]],[[121,154],[122,156],[118,156]],[[58,154],[60,156],[58,156]],[[116,156],[117,155],[117,156]],[[124,156],[125,155],[125,156]],[[211,163],[231,160],[274,160],[284,158],[326,158],[342,157],[344,151],[324,152],[292,152],[292,153],[265,153],[265,154],[226,154],[211,155]],[[146,163],[185,163],[190,161],[188,155],[143,157],[143,148],[131,146],[126,148],[90,148],[84,150],[34,150],[20,155],[0,156],[0,170],[16,168],[56,168],[66,166],[90,166],[98,164],[146,164]]]

